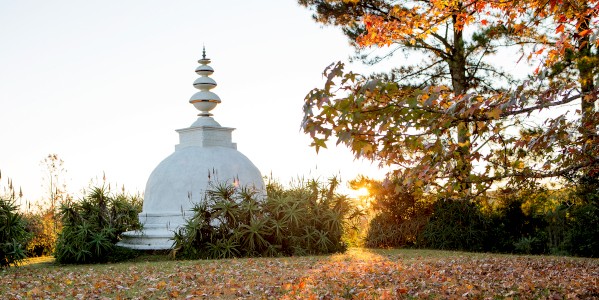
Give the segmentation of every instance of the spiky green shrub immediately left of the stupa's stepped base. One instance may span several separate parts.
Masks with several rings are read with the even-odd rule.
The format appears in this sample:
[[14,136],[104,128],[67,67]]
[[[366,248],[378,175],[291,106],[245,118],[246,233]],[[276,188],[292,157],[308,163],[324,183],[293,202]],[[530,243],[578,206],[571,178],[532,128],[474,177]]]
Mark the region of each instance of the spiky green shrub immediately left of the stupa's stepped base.
[[113,196],[105,186],[93,187],[79,202],[60,208],[63,230],[58,236],[55,257],[60,263],[96,263],[117,260],[124,255],[115,246],[119,235],[140,229],[137,214],[139,197],[124,193]]

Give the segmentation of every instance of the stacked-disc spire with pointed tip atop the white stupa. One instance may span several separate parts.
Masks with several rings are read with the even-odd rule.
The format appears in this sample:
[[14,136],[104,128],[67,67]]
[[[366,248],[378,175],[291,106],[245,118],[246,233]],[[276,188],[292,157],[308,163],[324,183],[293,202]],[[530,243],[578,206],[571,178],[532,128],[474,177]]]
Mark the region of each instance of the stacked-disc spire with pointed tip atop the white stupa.
[[189,103],[200,111],[198,116],[209,117],[212,116],[210,111],[221,101],[217,94],[210,91],[216,87],[216,81],[208,77],[214,73],[214,69],[208,65],[210,59],[206,58],[206,48],[202,51],[202,59],[198,60],[198,63],[200,65],[196,68],[196,73],[201,77],[193,82],[193,86],[200,91],[191,96]]

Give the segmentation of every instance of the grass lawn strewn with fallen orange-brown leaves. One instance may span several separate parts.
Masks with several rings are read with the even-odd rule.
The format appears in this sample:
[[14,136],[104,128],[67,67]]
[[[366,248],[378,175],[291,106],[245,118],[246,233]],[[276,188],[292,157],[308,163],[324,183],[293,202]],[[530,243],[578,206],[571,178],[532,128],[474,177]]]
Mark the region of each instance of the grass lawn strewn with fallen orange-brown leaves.
[[2,299],[599,299],[599,259],[360,248],[101,265],[46,258],[0,271],[0,282]]

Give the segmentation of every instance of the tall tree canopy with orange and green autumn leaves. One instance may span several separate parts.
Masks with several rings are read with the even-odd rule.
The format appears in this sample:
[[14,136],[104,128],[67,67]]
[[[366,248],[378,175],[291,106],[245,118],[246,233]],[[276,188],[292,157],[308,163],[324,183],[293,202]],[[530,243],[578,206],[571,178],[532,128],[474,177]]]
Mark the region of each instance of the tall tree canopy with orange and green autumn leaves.
[[[336,138],[408,186],[458,198],[596,167],[596,0],[571,9],[543,0],[299,3],[340,26],[355,58],[396,64],[370,76],[343,63],[325,70],[304,105],[317,150]],[[517,63],[538,68],[505,71]],[[581,99],[581,110],[563,112]],[[539,116],[544,123],[533,122]]]

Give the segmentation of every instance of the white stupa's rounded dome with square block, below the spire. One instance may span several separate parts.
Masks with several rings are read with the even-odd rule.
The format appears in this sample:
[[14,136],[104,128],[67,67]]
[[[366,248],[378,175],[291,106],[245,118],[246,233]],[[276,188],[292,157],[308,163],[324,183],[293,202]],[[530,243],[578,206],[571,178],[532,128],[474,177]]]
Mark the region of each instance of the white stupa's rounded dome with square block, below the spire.
[[210,183],[226,182],[264,190],[258,168],[231,142],[233,128],[213,125],[212,121],[216,121],[210,117],[200,117],[198,121],[192,127],[177,130],[180,143],[175,152],[150,175],[144,193],[144,212],[189,211],[194,203],[204,200]]

